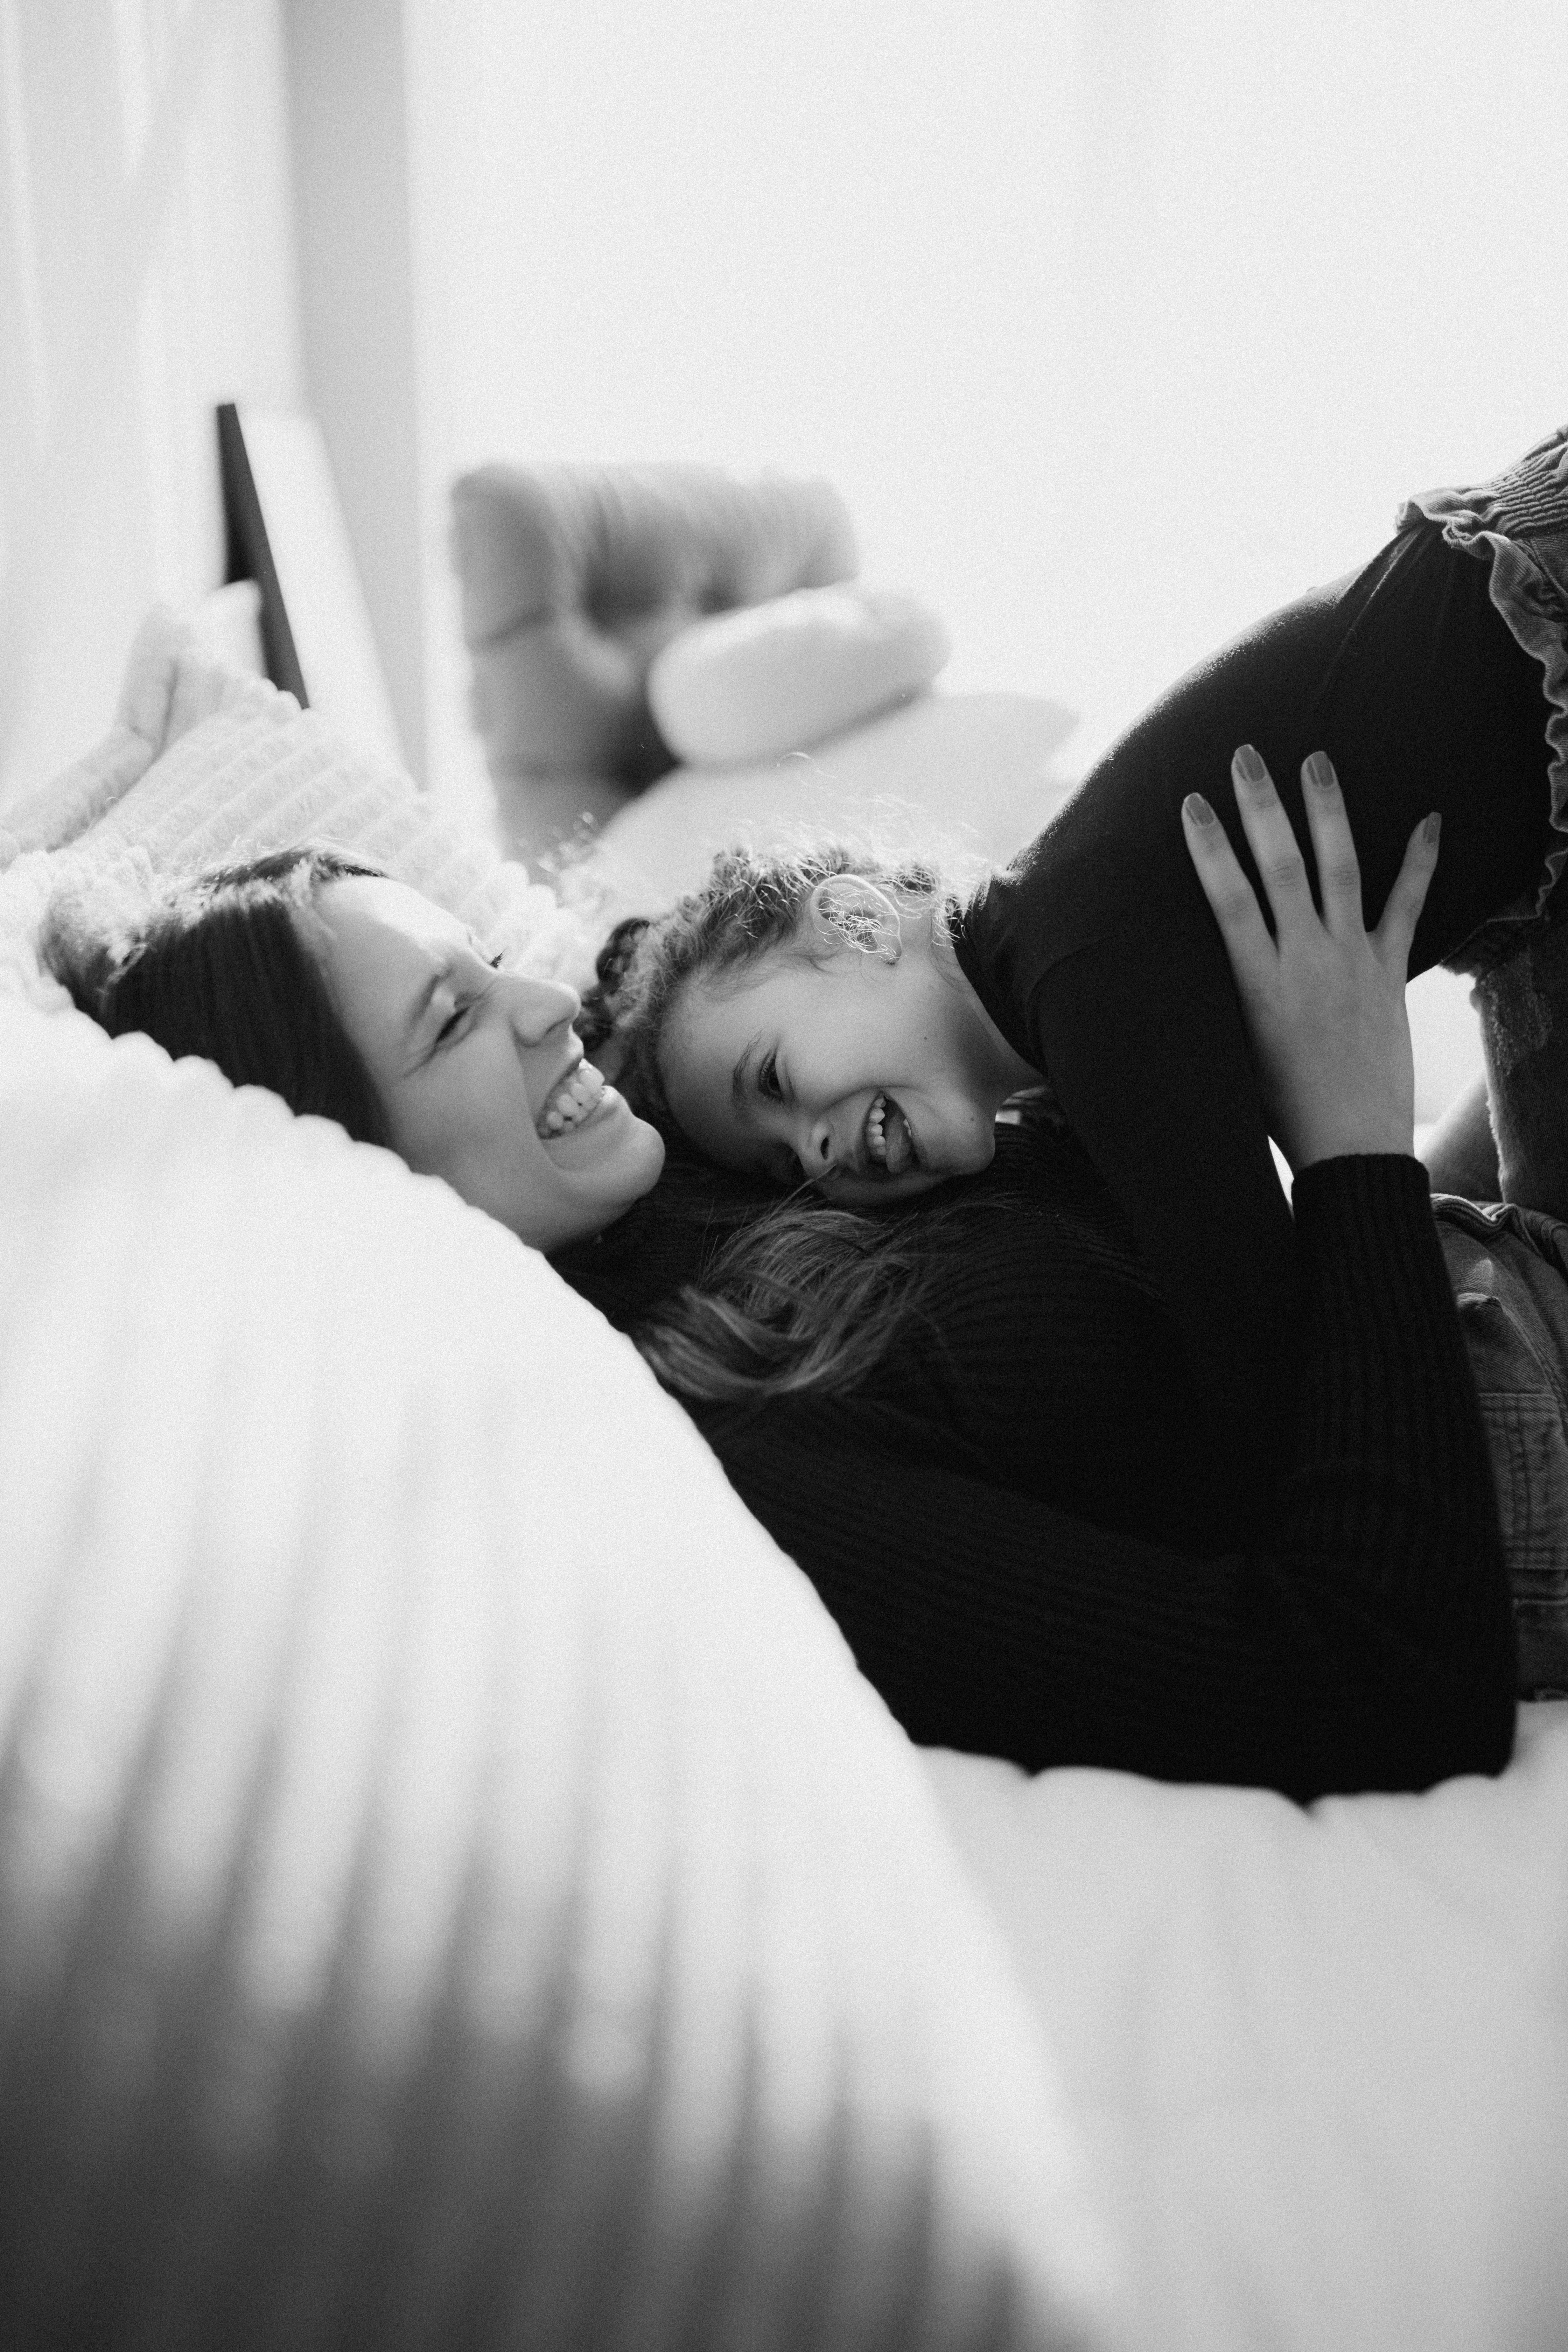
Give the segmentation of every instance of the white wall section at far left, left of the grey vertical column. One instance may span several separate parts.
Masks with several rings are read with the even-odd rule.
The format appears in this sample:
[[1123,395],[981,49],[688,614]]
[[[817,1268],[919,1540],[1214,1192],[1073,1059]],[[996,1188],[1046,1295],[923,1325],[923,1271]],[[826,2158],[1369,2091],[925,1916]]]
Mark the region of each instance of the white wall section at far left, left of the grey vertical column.
[[277,0],[0,0],[0,797],[223,579],[233,397],[301,400]]

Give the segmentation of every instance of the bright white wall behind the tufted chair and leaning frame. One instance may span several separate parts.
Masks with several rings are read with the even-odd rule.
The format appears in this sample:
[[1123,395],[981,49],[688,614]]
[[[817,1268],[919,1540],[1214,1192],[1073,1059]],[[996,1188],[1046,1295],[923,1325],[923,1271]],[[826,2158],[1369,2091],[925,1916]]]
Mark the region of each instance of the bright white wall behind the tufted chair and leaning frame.
[[444,489],[501,452],[830,473],[865,569],[950,619],[950,682],[1079,706],[1086,760],[1401,489],[1568,407],[1561,31],[1561,0],[0,0],[0,793],[103,724],[153,595],[219,579],[230,395],[322,414],[437,783],[473,764]]

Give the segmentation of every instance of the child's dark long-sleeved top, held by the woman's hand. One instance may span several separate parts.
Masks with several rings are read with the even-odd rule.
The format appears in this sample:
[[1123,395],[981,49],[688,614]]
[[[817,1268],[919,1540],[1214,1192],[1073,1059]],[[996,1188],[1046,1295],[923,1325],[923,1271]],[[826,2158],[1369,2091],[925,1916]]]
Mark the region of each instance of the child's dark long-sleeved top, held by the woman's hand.
[[1552,840],[1542,670],[1493,607],[1486,564],[1415,524],[1171,687],[964,910],[959,964],[1051,1077],[1126,1209],[1182,1327],[1215,1444],[1239,1435],[1232,1519],[1255,1531],[1291,1425],[1295,1240],[1180,823],[1182,797],[1204,793],[1255,875],[1229,781],[1239,743],[1262,750],[1302,842],[1300,762],[1328,750],[1368,924],[1410,830],[1441,809],[1410,957],[1420,971],[1540,877]]

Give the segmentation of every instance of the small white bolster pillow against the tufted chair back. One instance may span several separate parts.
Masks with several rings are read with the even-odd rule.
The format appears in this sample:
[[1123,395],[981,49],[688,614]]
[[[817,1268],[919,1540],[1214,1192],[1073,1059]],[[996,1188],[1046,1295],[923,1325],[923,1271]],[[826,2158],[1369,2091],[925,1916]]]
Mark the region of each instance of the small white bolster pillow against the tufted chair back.
[[649,668],[649,706],[682,760],[771,760],[919,694],[950,652],[910,595],[795,588],[672,637]]

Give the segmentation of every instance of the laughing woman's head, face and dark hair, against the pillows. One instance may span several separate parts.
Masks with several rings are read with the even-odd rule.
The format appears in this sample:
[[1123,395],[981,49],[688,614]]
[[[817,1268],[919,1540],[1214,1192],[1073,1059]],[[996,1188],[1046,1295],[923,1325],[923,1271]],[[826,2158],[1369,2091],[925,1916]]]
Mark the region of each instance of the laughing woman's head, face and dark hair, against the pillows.
[[[339,851],[181,882],[120,936],[66,901],[42,953],[113,1035],[146,1030],[388,1145],[536,1249],[599,1232],[663,1167],[661,1136],[583,1058],[574,988],[501,978],[456,915]],[[494,997],[505,1023],[477,1018]]]

